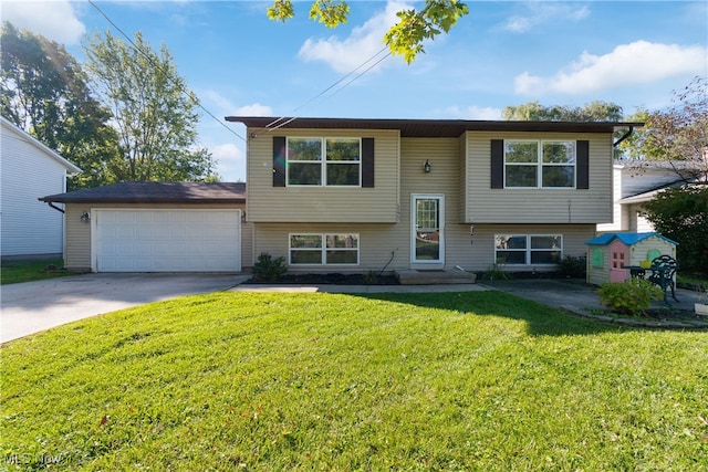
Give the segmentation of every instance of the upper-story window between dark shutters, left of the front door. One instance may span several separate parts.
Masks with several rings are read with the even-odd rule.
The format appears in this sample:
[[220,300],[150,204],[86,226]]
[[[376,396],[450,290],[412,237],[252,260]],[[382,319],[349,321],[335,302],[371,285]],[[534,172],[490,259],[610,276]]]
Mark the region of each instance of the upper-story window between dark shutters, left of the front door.
[[288,138],[288,186],[360,187],[360,138]]

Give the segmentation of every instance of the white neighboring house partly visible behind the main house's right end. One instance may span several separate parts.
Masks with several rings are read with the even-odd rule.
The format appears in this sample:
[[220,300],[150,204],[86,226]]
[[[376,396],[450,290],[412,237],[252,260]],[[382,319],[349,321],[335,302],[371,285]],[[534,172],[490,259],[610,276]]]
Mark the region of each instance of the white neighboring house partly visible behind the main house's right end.
[[[674,166],[680,162],[674,162]],[[620,161],[612,174],[612,223],[597,224],[598,232],[652,232],[654,225],[639,213],[644,203],[669,187],[681,186],[685,180],[669,162]]]

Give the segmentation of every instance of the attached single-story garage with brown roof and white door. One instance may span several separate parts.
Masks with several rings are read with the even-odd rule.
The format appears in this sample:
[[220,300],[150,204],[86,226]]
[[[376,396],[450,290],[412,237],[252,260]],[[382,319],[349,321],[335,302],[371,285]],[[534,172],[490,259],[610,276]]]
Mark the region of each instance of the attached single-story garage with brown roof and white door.
[[237,273],[252,266],[244,183],[124,182],[40,200],[64,203],[67,269]]

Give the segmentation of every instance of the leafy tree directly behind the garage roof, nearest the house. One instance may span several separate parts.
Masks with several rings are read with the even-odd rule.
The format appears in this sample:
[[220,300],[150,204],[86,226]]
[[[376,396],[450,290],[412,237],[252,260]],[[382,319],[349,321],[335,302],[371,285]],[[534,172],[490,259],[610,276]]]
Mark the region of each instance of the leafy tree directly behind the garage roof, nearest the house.
[[115,179],[212,180],[214,159],[197,145],[198,99],[167,48],[155,52],[139,32],[128,45],[106,31],[88,38],[84,50],[118,133],[119,153],[108,162]]

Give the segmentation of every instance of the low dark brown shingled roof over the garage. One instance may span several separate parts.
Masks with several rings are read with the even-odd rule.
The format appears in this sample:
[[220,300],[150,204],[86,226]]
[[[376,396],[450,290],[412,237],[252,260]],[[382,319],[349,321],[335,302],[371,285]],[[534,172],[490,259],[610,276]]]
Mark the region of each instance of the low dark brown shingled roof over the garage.
[[42,197],[59,203],[243,203],[246,183],[123,182]]

